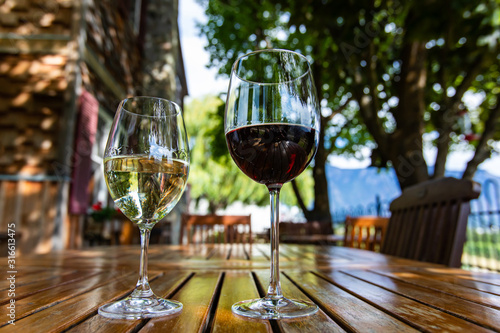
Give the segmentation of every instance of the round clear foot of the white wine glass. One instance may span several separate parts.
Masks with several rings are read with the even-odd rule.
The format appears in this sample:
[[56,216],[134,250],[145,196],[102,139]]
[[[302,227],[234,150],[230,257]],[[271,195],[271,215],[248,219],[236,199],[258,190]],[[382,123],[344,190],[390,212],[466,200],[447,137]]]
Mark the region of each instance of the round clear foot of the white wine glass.
[[99,308],[101,316],[113,319],[144,319],[175,314],[182,310],[182,303],[160,298],[127,297]]

